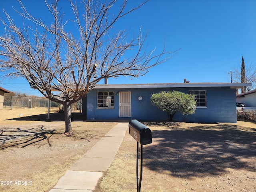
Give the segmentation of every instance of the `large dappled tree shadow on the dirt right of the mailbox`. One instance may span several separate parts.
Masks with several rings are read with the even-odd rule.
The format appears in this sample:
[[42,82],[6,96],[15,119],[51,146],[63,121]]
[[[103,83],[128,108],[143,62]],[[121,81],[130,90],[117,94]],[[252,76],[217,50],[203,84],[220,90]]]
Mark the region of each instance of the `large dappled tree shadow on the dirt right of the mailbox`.
[[211,125],[152,131],[144,147],[144,166],[190,178],[221,175],[227,168],[256,172],[256,133],[236,125]]

